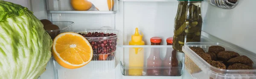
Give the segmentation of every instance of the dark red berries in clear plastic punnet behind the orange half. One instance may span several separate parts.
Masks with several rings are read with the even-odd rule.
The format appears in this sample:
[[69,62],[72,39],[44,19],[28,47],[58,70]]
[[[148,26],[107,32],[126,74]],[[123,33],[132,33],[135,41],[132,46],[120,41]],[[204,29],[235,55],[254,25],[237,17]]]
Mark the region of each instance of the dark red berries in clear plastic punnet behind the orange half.
[[100,32],[89,32],[87,34],[81,34],[87,40],[89,40],[90,45],[93,48],[93,55],[100,55],[100,54],[112,54],[116,51],[116,41],[117,35],[116,34],[105,34]]

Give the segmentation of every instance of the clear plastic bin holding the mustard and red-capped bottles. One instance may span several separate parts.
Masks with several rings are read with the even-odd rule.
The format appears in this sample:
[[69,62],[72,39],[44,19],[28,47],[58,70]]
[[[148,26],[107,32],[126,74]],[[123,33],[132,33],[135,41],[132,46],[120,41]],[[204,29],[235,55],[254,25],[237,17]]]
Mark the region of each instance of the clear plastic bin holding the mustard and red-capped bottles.
[[[167,76],[163,75],[163,70],[175,69],[177,71],[177,79],[182,79],[183,73],[183,62],[184,62],[184,53],[177,52],[178,67],[147,67],[147,59],[150,56],[152,48],[159,48],[160,58],[163,59],[166,55],[166,49],[170,48],[173,50],[172,45],[122,45],[116,46],[119,49],[123,49],[123,59],[120,60],[121,71],[124,76],[129,75],[130,69],[142,69],[141,76],[149,76],[147,70],[161,70],[161,74],[158,76]],[[144,65],[143,67],[129,67],[129,48],[143,48],[144,49]]]

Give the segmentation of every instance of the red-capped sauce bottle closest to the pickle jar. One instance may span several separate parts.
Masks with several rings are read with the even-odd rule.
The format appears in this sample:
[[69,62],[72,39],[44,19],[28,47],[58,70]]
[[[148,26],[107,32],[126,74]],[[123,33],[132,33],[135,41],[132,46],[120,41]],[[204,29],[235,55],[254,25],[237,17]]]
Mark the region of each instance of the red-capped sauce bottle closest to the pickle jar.
[[[173,38],[167,38],[167,45],[172,45]],[[167,48],[166,56],[163,59],[163,67],[171,67],[163,70],[164,76],[179,76],[178,59],[176,57],[176,51],[172,48]]]

